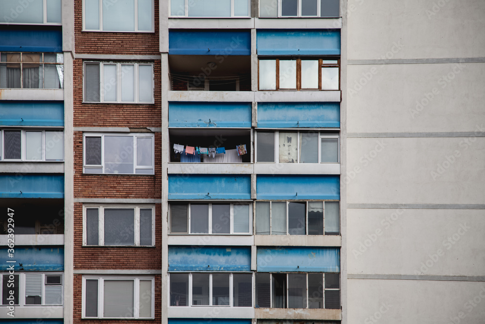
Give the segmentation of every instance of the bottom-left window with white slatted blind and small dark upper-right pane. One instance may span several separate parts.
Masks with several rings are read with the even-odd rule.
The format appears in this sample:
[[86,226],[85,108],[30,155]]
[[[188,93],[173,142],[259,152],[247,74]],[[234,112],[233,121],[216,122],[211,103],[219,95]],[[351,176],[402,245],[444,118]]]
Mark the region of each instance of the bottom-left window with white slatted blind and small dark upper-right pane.
[[[63,304],[62,273],[1,273],[0,280],[2,305],[61,306]],[[10,303],[12,300],[14,304]]]

